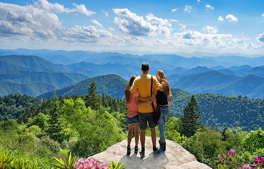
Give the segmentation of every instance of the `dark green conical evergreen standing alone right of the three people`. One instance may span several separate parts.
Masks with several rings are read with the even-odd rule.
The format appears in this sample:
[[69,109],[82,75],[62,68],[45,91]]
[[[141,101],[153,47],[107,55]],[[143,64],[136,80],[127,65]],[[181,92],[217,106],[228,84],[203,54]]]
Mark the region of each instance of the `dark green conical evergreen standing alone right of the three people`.
[[193,136],[201,128],[202,121],[198,122],[197,120],[202,120],[202,117],[200,117],[199,105],[194,95],[192,95],[190,102],[183,109],[183,115],[180,116],[180,120],[180,133],[184,136]]

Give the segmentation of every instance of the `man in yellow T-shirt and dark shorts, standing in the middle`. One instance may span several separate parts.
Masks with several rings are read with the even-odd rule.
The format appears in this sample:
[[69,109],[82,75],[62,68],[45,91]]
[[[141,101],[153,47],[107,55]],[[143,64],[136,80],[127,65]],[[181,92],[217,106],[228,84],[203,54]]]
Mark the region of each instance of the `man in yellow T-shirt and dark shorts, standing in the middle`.
[[[135,78],[130,92],[136,93],[139,91],[139,95],[142,98],[151,98],[151,76],[149,72],[148,62],[144,62],[141,65],[142,75]],[[158,89],[161,88],[161,84],[155,76],[152,76],[152,92],[156,93]],[[155,94],[154,94],[155,95]],[[155,96],[154,96],[155,97]],[[154,107],[157,107],[156,99],[152,99]],[[136,98],[136,103],[138,98]],[[153,145],[153,156],[157,156],[159,149],[156,147],[156,124],[154,123],[154,110],[151,104],[138,106],[138,117],[139,117],[139,127],[140,127],[140,142],[141,142],[141,152],[140,156],[145,157],[145,130],[147,127],[147,122],[151,130],[151,140]]]

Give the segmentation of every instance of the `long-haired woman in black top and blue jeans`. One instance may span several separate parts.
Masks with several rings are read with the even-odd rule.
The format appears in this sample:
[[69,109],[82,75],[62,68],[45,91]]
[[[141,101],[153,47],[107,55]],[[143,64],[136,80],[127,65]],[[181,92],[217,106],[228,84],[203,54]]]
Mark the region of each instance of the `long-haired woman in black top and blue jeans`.
[[[158,70],[155,77],[162,85],[161,89],[157,91],[156,100],[157,100],[157,105],[159,105],[161,111],[161,118],[158,121],[160,135],[161,135],[161,138],[159,139],[159,143],[160,145],[162,145],[163,150],[165,151],[166,150],[165,124],[169,115],[169,106],[170,103],[172,102],[172,94],[170,92],[169,82],[167,81],[167,77],[165,76],[164,72],[162,70]],[[168,102],[168,95],[170,97],[169,102]]]

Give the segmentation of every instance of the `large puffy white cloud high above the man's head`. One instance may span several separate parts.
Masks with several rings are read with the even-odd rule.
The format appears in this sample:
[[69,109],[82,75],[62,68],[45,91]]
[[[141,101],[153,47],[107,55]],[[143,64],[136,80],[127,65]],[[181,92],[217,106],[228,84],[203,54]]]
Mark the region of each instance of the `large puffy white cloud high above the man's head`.
[[[142,16],[130,12],[128,9],[113,9],[118,16],[114,18],[114,23],[119,25],[119,30],[125,35],[134,36],[170,36],[171,28],[163,25],[171,25],[168,20],[147,15],[147,21]],[[151,23],[157,24],[152,25]],[[161,24],[161,25],[160,25]]]

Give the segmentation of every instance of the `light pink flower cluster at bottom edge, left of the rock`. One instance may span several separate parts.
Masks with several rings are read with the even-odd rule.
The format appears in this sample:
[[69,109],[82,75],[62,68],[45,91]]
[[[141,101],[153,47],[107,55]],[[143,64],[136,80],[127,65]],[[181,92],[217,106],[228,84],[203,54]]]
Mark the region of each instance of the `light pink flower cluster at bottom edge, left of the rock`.
[[105,162],[100,163],[93,158],[87,158],[85,161],[80,158],[73,167],[76,169],[108,169],[108,164]]

